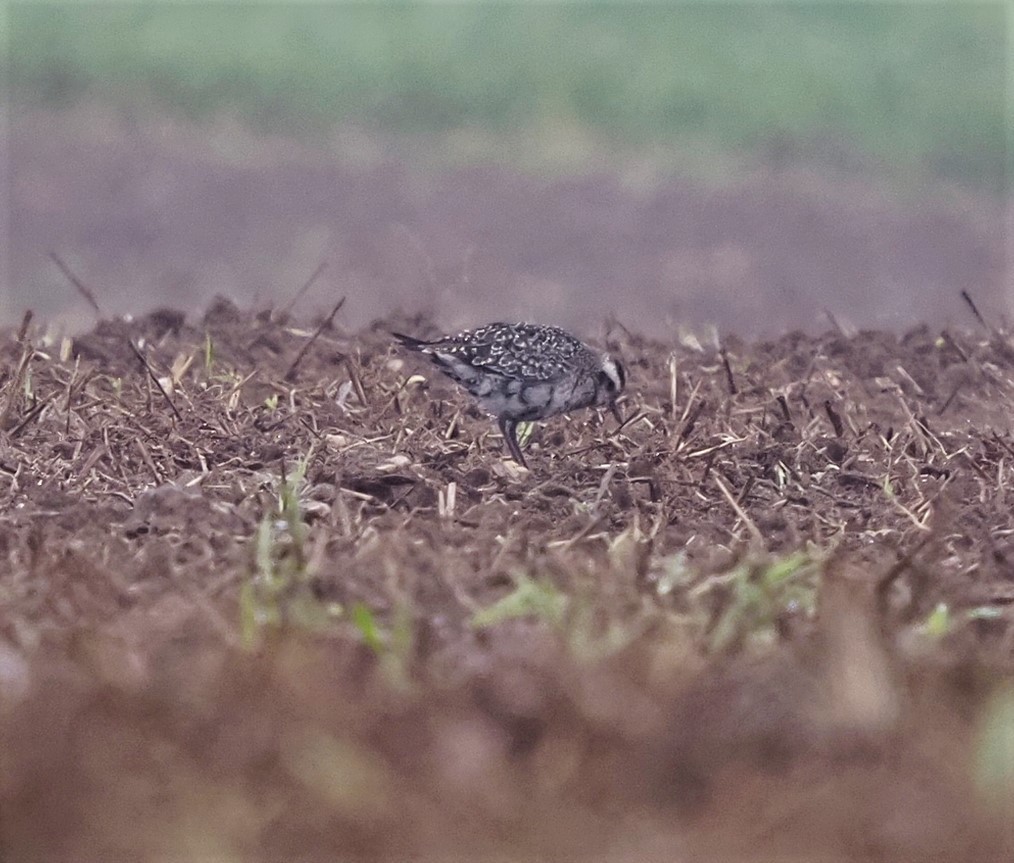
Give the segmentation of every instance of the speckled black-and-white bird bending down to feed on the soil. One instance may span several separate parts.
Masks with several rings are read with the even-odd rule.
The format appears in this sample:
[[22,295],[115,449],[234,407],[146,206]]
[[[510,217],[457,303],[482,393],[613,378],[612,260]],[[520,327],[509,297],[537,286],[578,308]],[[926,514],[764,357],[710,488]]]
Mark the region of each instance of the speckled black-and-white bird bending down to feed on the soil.
[[518,423],[602,406],[623,424],[617,406],[627,384],[623,365],[559,327],[497,321],[432,340],[391,336],[429,356],[492,414],[507,451],[523,468]]

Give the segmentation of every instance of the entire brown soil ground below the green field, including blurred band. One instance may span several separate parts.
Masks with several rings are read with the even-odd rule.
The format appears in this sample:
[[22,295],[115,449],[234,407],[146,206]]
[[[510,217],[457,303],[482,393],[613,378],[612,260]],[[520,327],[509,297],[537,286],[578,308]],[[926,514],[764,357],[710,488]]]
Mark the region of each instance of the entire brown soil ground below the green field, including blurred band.
[[[63,122],[14,144],[46,322],[0,340],[3,859],[1014,854],[999,207],[238,169]],[[206,310],[64,338],[54,250],[106,314]],[[314,339],[319,260],[349,299]],[[387,335],[501,313],[623,357],[630,422],[541,424],[515,470]]]

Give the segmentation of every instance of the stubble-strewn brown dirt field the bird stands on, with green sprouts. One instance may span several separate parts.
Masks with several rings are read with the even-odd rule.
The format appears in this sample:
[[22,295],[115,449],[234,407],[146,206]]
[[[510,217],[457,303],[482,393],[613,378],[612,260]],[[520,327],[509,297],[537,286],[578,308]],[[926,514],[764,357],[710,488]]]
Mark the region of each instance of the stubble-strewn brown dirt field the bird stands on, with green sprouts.
[[337,320],[3,337],[3,859],[1014,854],[995,321],[613,326],[524,472]]

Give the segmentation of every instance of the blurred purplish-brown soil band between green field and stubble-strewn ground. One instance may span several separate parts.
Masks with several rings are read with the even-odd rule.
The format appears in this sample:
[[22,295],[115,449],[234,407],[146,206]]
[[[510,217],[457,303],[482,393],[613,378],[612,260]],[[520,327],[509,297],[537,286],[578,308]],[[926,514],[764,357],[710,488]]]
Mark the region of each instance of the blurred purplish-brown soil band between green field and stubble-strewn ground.
[[990,318],[1014,313],[1004,200],[891,179],[848,154],[807,164],[782,148],[706,183],[603,153],[578,175],[535,178],[441,166],[440,142],[346,130],[329,152],[101,104],[15,106],[11,128],[11,326],[31,308],[90,327],[51,253],[106,314],[193,311],[219,295],[278,305],[321,262],[300,308],[348,295],[356,327],[403,310],[447,329],[534,319],[590,333],[615,315],[656,338],[709,326],[746,337],[819,333],[830,313],[847,330],[900,332],[967,325],[961,290]]

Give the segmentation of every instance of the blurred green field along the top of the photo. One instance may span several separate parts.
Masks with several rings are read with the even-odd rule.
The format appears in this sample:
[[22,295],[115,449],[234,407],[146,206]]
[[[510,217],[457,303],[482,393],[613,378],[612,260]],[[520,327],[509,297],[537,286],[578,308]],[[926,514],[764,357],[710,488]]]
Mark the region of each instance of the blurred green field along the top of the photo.
[[999,189],[1003,2],[15,3],[20,102],[95,96],[314,135],[353,122],[854,154]]

